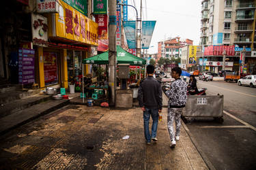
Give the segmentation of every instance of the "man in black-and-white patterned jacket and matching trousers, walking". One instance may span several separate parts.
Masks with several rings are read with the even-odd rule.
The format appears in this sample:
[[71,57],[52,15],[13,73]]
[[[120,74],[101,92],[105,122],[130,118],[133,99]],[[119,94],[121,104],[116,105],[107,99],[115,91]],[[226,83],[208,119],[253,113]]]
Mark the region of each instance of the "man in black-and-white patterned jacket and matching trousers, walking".
[[[186,82],[180,79],[182,69],[175,67],[171,70],[171,77],[175,80],[171,83],[170,90],[167,90],[166,95],[169,98],[167,127],[171,139],[171,148],[176,145],[176,140],[180,140],[180,117],[182,116],[182,108],[186,105],[187,100],[187,85]],[[176,131],[173,129],[173,120],[175,120]]]

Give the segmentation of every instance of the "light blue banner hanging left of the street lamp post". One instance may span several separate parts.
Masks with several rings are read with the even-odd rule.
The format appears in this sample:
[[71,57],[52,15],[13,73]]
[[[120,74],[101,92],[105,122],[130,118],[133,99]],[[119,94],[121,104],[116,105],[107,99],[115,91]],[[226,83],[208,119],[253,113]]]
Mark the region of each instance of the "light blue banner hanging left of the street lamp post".
[[136,49],[136,21],[128,20],[123,22],[124,33],[126,34],[126,40],[128,48]]

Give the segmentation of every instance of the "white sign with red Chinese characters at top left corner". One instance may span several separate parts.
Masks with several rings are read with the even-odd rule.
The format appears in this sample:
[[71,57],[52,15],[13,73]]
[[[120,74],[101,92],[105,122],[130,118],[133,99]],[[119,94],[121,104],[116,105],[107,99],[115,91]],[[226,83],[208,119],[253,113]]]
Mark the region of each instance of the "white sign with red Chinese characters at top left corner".
[[37,0],[38,13],[44,12],[58,12],[56,0]]

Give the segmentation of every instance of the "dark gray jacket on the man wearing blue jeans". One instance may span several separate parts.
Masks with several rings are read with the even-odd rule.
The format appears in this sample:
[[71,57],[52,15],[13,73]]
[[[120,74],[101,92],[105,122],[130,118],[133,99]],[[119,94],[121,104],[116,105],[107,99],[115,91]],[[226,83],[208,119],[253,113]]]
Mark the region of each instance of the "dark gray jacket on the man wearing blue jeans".
[[139,106],[147,109],[162,109],[162,88],[160,82],[148,76],[141,80],[138,92]]

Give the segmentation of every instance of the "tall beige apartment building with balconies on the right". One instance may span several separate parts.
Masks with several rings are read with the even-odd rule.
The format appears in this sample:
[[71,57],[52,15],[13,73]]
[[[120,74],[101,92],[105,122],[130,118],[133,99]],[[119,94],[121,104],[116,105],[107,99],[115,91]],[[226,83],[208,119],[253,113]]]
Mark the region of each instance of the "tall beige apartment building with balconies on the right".
[[[227,56],[233,71],[240,68],[240,51],[246,47],[246,72],[256,71],[256,58],[252,53],[255,42],[255,1],[254,0],[202,0],[201,1],[201,39],[200,45],[232,46],[234,56]],[[214,49],[214,48],[213,48]],[[218,53],[219,54],[219,53]],[[233,54],[233,53],[232,53]],[[208,63],[223,61],[223,55],[205,56]],[[218,72],[221,66],[206,65],[210,71]]]

